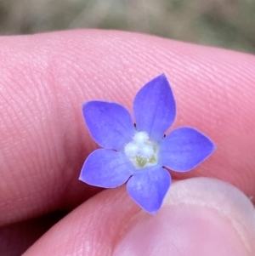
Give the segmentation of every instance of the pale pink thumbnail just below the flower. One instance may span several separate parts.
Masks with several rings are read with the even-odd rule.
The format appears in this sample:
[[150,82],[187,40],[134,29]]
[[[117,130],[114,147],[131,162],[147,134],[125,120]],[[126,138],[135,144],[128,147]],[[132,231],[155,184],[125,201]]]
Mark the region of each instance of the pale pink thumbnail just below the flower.
[[155,216],[127,224],[114,256],[255,255],[255,211],[235,186],[218,179],[174,183]]

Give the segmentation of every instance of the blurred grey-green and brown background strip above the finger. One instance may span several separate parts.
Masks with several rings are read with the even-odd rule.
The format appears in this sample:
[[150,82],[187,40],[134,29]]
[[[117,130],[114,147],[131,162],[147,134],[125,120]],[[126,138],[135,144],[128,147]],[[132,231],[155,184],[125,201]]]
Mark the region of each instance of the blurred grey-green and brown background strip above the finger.
[[0,34],[103,28],[255,53],[255,0],[0,0]]

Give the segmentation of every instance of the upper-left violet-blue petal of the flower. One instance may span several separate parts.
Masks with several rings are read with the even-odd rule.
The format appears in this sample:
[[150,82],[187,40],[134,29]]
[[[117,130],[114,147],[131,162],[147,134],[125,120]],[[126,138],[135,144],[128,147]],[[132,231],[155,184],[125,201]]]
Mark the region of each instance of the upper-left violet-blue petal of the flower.
[[101,147],[122,150],[132,140],[133,122],[122,105],[93,100],[85,103],[82,111],[89,133]]

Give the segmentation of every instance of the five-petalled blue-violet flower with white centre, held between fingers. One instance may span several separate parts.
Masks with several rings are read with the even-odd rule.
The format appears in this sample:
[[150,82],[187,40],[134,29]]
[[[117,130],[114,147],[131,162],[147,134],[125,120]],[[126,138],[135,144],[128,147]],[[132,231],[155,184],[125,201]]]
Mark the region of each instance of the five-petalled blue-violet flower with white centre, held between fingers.
[[215,150],[212,140],[194,128],[174,129],[173,92],[162,74],[146,83],[133,101],[132,117],[117,103],[92,100],[82,108],[88,131],[102,147],[82,166],[80,180],[104,188],[127,182],[127,192],[148,213],[156,213],[171,185],[166,168],[187,172]]

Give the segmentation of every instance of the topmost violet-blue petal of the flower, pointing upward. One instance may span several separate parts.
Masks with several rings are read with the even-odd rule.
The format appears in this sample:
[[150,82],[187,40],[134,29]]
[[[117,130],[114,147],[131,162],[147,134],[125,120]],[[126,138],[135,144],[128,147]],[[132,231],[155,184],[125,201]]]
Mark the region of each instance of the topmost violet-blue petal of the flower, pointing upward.
[[146,83],[133,101],[133,115],[139,131],[157,142],[175,119],[176,106],[167,77],[162,74]]

